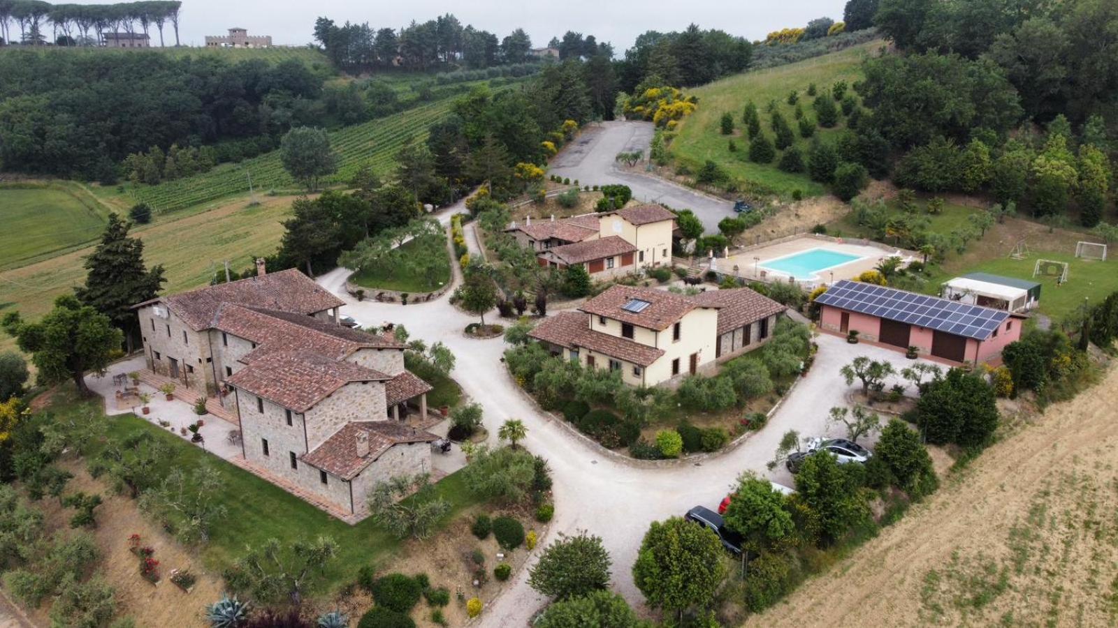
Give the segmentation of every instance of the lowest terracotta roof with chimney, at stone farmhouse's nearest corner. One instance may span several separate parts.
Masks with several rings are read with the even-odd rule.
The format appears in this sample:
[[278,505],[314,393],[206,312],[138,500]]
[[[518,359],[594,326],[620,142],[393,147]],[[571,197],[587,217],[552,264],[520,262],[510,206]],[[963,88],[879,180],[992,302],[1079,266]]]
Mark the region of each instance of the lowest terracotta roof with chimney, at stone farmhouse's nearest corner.
[[[369,454],[366,456],[357,455],[357,436],[360,432],[369,437]],[[304,454],[302,459],[312,467],[349,480],[394,445],[433,440],[438,440],[438,437],[397,421],[353,421],[342,426],[311,453]]]

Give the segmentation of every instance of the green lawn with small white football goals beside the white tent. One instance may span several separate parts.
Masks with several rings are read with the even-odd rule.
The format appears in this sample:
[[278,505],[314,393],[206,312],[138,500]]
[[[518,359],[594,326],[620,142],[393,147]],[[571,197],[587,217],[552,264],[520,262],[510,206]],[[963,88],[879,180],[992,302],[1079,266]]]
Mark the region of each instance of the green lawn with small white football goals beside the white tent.
[[[982,242],[977,242],[972,246],[980,245]],[[1053,276],[1033,277],[1038,259],[1067,261],[1068,283],[1057,286],[1057,278]],[[1057,321],[1074,313],[1084,303],[1096,305],[1110,293],[1118,291],[1118,263],[1110,259],[1107,261],[1079,259],[1074,255],[1048,250],[1033,250],[1025,259],[1013,259],[1008,256],[988,259],[959,273],[939,270],[929,279],[928,287],[934,291],[939,289],[944,282],[967,273],[991,273],[1040,282],[1042,287],[1039,311]]]

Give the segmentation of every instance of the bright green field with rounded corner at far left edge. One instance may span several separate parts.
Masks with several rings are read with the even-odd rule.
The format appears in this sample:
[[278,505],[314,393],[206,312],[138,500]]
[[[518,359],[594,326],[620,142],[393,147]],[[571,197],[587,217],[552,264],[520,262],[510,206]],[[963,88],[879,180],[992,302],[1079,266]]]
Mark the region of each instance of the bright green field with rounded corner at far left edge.
[[0,269],[93,241],[107,217],[107,210],[76,184],[0,185]]

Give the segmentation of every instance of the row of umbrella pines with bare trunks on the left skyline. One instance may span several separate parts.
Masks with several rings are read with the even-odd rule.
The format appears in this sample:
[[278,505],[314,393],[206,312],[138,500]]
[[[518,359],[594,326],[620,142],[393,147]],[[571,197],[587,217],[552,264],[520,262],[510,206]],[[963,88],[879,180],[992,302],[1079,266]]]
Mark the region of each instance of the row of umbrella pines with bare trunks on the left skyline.
[[[163,27],[168,22],[174,30],[174,45],[179,45],[179,0],[150,0],[117,2],[113,4],[51,4],[42,0],[0,0],[0,35],[3,44],[12,44],[11,23],[19,27],[19,41],[25,46],[46,44],[42,30],[50,25],[51,42],[59,46],[101,46],[114,34],[134,35],[136,27],[149,35],[159,29],[159,45],[163,46]],[[93,37],[89,31],[93,30]],[[80,35],[80,37],[78,37]]]

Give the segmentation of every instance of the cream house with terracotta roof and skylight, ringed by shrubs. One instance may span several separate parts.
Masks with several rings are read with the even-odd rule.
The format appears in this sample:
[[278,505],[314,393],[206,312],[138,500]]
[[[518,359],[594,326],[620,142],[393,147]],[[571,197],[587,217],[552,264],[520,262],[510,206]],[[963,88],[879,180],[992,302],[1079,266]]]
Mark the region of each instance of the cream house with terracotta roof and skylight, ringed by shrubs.
[[786,307],[749,288],[679,295],[615,285],[529,334],[586,368],[632,386],[676,383],[760,346]]

